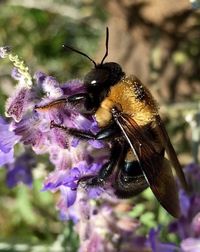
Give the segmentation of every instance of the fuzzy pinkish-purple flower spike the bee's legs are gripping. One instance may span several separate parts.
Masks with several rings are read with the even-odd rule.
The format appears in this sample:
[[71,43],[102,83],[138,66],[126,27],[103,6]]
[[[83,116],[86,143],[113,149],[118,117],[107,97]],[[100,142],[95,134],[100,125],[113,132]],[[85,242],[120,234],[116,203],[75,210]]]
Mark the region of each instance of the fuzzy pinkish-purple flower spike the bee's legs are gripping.
[[[18,69],[13,70],[13,76],[20,85],[7,102],[7,115],[14,119],[12,133],[36,154],[49,154],[55,169],[45,179],[42,190],[60,191],[58,207],[62,218],[72,216],[68,213],[71,213],[76,201],[79,181],[86,176],[95,176],[109,156],[109,146],[103,141],[79,141],[65,130],[67,127],[89,129],[93,133],[99,130],[92,116],[83,116],[79,112],[80,105],[78,108],[65,102],[68,96],[84,92],[83,83],[72,80],[61,85],[54,77],[38,72],[34,76],[36,85],[27,85]],[[62,102],[55,106],[48,105],[56,99],[62,99]],[[6,145],[3,146],[5,148]],[[31,185],[31,166],[23,160],[24,157],[18,158],[9,165],[9,186],[19,181]],[[98,198],[105,192],[100,187],[85,191],[89,198]]]

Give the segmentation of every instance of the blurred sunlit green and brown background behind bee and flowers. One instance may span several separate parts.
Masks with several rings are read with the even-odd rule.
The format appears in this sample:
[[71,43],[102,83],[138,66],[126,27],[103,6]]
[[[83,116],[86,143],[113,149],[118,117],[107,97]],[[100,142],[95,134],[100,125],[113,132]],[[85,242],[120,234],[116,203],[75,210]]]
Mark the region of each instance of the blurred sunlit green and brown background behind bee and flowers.
[[[108,60],[120,63],[150,88],[185,166],[200,161],[200,12],[198,1],[193,2],[196,5],[188,0],[0,1],[0,46],[12,46],[32,75],[43,71],[62,83],[83,78],[91,68],[90,61],[62,45],[100,61],[108,26]],[[1,115],[15,85],[11,70],[9,61],[1,59]],[[40,191],[52,164],[47,156],[37,160],[31,188],[8,188],[6,170],[0,169],[0,251],[77,251],[73,224],[59,220],[57,194]],[[138,233],[147,234],[171,220],[149,190],[137,201],[131,216],[143,224]],[[167,230],[162,238],[179,241]]]

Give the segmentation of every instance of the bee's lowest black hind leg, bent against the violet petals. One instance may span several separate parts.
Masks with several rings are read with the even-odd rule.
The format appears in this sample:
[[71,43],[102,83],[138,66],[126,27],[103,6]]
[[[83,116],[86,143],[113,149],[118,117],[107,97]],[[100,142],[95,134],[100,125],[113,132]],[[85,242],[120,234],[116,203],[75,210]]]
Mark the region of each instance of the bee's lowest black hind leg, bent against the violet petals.
[[84,183],[86,186],[102,185],[112,174],[115,165],[117,164],[122,152],[122,145],[115,141],[112,144],[110,160],[106,162],[96,176],[86,176],[79,180],[79,183]]

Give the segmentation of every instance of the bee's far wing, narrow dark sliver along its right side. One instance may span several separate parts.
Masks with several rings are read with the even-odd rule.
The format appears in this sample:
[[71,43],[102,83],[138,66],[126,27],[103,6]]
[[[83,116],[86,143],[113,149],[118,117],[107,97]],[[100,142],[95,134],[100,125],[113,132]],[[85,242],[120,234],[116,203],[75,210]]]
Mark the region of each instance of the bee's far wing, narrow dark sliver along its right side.
[[169,139],[168,133],[165,129],[165,126],[160,118],[159,115],[156,116],[156,123],[157,123],[157,129],[160,135],[160,139],[162,140],[162,143],[166,149],[167,155],[176,171],[176,174],[181,182],[182,187],[187,191],[188,190],[188,186],[187,186],[187,182],[185,179],[185,175],[183,173],[182,167],[178,161],[176,152],[171,144],[171,141]]

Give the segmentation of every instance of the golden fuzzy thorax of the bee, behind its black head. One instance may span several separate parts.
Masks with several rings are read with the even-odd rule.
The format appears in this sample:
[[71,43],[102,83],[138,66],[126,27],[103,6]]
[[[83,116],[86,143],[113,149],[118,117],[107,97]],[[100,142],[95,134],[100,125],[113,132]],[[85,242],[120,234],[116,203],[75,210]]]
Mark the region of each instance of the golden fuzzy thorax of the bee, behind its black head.
[[107,97],[95,113],[100,127],[108,125],[112,119],[112,107],[128,114],[140,126],[154,121],[158,108],[149,90],[133,75],[124,77],[111,87]]

